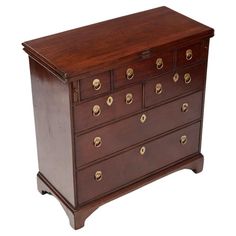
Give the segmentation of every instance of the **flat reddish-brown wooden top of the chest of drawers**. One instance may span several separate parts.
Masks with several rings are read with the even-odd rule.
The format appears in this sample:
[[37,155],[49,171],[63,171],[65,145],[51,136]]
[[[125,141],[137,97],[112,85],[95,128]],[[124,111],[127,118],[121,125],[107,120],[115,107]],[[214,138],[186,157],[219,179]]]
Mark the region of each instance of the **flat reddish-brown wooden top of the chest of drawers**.
[[159,7],[27,41],[23,46],[30,56],[67,80],[137,52],[213,34],[212,28]]

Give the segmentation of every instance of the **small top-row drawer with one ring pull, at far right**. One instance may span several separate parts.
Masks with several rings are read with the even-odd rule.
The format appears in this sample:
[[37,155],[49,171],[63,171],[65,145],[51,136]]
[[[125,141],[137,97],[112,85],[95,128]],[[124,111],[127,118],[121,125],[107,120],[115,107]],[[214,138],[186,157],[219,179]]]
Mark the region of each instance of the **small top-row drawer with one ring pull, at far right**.
[[189,65],[207,57],[203,42],[188,45],[177,50],[177,67]]

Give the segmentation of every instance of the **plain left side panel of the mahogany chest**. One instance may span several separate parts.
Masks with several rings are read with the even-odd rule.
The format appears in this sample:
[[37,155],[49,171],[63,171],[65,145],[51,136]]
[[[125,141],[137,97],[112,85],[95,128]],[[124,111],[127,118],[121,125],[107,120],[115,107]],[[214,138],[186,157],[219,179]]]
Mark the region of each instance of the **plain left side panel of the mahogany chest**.
[[40,173],[75,204],[69,87],[30,59]]

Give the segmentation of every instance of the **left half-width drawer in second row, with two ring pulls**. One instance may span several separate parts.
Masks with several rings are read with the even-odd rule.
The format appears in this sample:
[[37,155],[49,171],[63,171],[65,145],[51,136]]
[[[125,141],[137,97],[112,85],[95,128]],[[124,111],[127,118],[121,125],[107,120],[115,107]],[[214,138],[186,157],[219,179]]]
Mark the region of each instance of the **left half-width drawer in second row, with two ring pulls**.
[[142,108],[142,85],[131,86],[74,108],[75,131],[80,132]]

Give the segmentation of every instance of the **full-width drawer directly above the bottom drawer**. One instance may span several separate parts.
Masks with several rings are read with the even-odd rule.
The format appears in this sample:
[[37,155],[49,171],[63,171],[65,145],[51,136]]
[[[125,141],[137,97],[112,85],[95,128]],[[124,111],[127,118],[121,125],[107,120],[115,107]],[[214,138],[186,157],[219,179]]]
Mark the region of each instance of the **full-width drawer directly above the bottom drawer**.
[[77,136],[77,167],[199,119],[201,102],[202,93],[198,92]]

